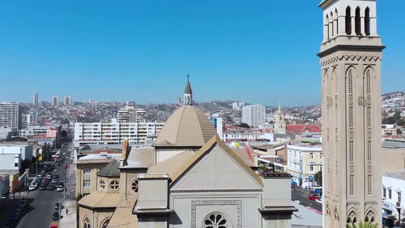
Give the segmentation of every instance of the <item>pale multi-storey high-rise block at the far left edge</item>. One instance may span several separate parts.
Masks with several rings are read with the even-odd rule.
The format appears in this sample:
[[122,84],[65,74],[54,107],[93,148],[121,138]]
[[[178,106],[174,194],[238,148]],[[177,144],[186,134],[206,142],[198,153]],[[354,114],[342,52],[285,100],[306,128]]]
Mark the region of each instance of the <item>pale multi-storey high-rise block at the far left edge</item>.
[[16,128],[21,130],[22,111],[18,102],[0,103],[0,127]]

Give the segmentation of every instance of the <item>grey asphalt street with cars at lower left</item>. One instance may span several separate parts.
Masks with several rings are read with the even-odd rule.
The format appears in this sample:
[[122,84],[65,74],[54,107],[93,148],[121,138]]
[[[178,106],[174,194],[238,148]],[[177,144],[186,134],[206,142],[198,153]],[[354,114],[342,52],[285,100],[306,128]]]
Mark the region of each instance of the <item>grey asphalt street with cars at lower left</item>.
[[[67,153],[68,148],[67,146],[61,148],[61,154],[64,152]],[[65,163],[62,163],[61,166],[58,166],[57,163],[55,163],[55,165],[57,171],[52,173],[58,173],[60,179],[66,179]],[[64,194],[65,192],[56,192],[56,190],[41,191],[39,188],[31,192],[21,192],[20,197],[24,197],[24,199],[27,200],[27,206],[21,211],[19,221],[10,222],[9,227],[49,227],[52,222],[52,214],[56,212],[55,203],[59,203],[59,200]],[[16,196],[16,198],[19,197]]]

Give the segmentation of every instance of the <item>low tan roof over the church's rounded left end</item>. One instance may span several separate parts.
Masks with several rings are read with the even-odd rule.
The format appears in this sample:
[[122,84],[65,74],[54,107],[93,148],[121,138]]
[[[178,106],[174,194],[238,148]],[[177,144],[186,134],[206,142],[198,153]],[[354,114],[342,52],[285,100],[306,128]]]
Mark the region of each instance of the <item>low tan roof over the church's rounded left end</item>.
[[93,192],[88,196],[84,196],[78,204],[84,207],[101,208],[101,207],[117,207],[119,203],[120,192]]

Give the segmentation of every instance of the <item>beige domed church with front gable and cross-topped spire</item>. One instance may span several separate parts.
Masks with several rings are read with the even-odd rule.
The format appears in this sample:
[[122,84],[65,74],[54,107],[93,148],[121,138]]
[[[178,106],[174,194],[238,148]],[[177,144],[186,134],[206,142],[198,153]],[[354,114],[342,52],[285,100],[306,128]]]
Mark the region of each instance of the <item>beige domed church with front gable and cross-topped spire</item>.
[[79,202],[79,227],[291,227],[291,176],[259,172],[231,150],[209,118],[184,104],[167,119],[154,150],[124,144],[122,159],[97,172],[97,190]]

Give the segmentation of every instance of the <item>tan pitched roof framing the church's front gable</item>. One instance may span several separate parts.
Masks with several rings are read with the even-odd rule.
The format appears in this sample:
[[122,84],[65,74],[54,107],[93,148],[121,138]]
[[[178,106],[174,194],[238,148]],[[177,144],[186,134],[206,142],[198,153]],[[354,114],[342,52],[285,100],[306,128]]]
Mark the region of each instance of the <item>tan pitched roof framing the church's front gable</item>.
[[[152,166],[148,173],[164,173],[169,174],[172,183],[174,183],[178,178],[180,178],[189,168],[194,166],[199,160],[200,157],[207,155],[214,146],[219,146],[226,152],[236,163],[238,163],[250,176],[263,186],[263,179],[261,176],[256,174],[236,153],[231,150],[224,142],[221,141],[218,135],[212,137],[207,144],[205,144],[197,152],[185,151],[167,161],[158,163],[155,166]],[[172,184],[171,183],[171,184]]]

